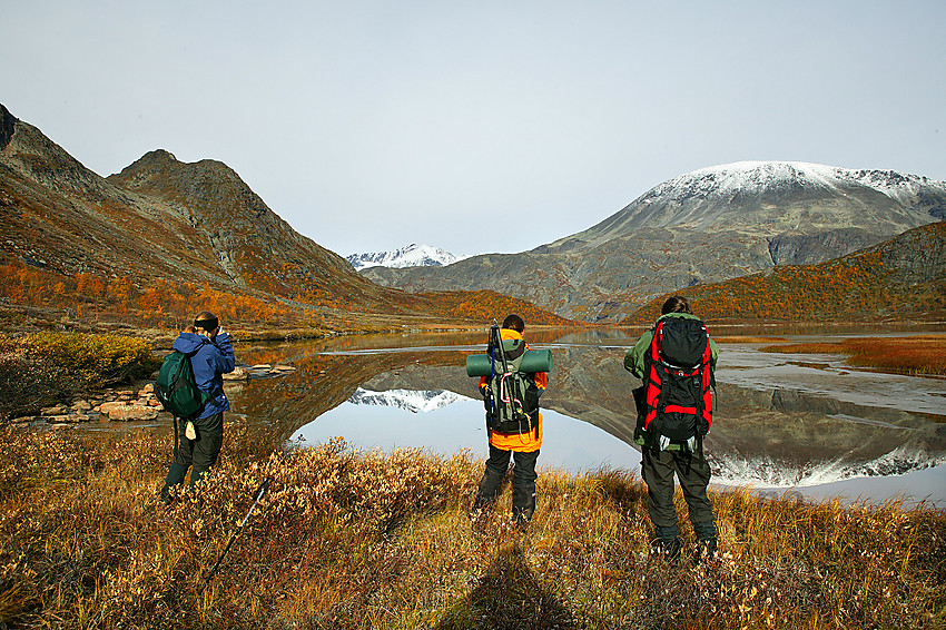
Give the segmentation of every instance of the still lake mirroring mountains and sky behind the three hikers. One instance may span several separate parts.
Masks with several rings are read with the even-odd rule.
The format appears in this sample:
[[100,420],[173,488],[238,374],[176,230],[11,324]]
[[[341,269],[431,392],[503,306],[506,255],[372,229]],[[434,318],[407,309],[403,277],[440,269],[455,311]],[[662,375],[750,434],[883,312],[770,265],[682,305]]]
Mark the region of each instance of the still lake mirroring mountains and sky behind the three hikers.
[[[726,338],[913,332],[942,328],[716,328],[717,411],[706,441],[713,483],[845,501],[900,495],[946,506],[946,380],[858,370],[839,355],[762,353],[770,344]],[[542,397],[540,469],[638,469],[631,390],[639,383],[622,360],[639,333],[526,329],[531,347],[550,348],[554,357]],[[297,371],[228,384],[231,413],[297,445],[341,436],[359,449],[469,450],[485,457],[483,403],[464,368],[484,339],[485,332],[238,346],[238,362]]]

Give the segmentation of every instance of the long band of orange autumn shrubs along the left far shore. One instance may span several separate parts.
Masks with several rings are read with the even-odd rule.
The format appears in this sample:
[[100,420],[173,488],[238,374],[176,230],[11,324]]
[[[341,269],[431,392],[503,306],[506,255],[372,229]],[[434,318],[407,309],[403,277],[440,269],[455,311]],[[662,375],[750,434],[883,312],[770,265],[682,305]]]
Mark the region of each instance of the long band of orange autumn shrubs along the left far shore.
[[529,302],[492,291],[411,295],[391,289],[388,294],[387,303],[366,305],[357,296],[309,287],[292,299],[283,299],[262,292],[224,291],[206,282],[135,282],[129,276],[105,278],[89,273],[67,276],[20,262],[0,264],[0,297],[18,305],[62,309],[86,322],[179,328],[199,304],[223,321],[262,327],[365,329],[367,322],[381,321],[374,326],[383,327],[385,315],[427,323],[483,323],[509,313],[519,313],[534,325],[572,324]]

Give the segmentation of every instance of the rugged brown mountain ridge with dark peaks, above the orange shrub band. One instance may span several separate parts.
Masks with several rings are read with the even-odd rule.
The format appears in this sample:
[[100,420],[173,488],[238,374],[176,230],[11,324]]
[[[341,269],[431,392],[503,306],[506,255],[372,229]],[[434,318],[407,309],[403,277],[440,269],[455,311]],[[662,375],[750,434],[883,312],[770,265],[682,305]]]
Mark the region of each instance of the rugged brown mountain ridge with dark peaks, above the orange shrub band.
[[[191,277],[290,295],[324,280],[380,296],[345,260],[298,235],[226,165],[165,150],[104,178],[39,129],[0,111],[3,249],[63,274]],[[33,256],[30,256],[32,250]],[[290,282],[292,280],[292,282]]]

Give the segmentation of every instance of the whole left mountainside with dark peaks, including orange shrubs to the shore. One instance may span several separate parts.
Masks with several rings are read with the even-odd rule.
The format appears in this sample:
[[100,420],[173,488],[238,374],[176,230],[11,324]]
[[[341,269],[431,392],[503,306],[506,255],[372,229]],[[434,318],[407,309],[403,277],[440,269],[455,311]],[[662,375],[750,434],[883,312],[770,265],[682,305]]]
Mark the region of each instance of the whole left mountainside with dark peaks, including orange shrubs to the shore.
[[[0,297],[14,295],[14,302],[32,306],[53,301],[68,305],[68,294],[82,293],[79,287],[89,284],[80,276],[93,276],[99,287],[95,299],[114,298],[97,304],[97,312],[117,302],[122,308],[167,311],[169,295],[186,302],[196,291],[189,287],[208,286],[223,292],[218,297],[230,309],[236,301],[229,297],[252,296],[255,307],[315,307],[334,313],[329,319],[344,325],[358,318],[384,325],[393,315],[452,322],[473,317],[464,306],[470,296],[408,295],[358,275],[344,258],[296,233],[219,161],[185,164],[155,150],[104,178],[0,105],[3,263],[29,273],[0,282]],[[114,282],[116,295],[106,295]],[[168,283],[175,286],[168,288]],[[37,286],[47,287],[48,295],[35,295]],[[136,303],[136,295],[156,286],[162,293]],[[71,303],[89,299],[72,296]],[[490,294],[475,302],[562,322],[505,296]]]

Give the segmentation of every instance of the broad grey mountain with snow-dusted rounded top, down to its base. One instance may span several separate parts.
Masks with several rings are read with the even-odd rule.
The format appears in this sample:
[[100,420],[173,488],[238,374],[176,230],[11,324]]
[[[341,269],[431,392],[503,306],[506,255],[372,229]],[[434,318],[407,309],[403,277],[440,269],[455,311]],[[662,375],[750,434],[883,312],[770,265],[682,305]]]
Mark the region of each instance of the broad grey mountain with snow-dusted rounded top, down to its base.
[[531,252],[364,274],[412,292],[493,288],[565,316],[619,321],[668,291],[824,262],[943,218],[943,181],[739,163],[661,184],[600,224]]

